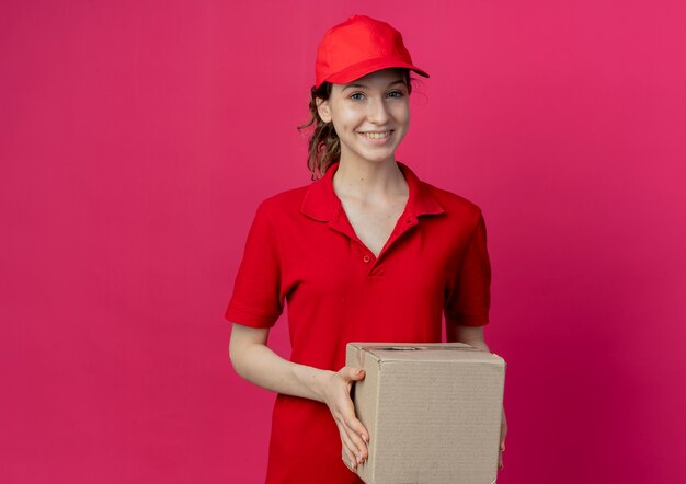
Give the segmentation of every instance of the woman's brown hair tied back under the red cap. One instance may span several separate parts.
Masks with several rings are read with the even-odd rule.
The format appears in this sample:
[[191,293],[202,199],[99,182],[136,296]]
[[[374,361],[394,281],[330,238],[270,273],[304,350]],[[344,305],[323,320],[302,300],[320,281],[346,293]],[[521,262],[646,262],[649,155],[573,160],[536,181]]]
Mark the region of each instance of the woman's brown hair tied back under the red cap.
[[[404,70],[405,85],[408,94],[412,93],[412,82],[415,80],[410,77],[410,71]],[[327,101],[331,96],[331,83],[323,82],[319,89],[312,85],[310,89],[310,120],[298,126],[301,131],[313,125],[312,132],[308,141],[307,168],[309,169],[312,180],[323,176],[329,166],[336,163],[341,159],[341,140],[333,128],[333,123],[324,123],[319,117],[317,111],[317,100]]]

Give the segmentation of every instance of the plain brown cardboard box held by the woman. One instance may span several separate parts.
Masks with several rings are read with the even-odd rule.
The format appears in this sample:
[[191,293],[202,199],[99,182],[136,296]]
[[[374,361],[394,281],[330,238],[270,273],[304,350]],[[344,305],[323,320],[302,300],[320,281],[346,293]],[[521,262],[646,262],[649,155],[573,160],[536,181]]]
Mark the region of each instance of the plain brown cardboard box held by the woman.
[[346,365],[369,430],[369,458],[353,469],[367,484],[492,484],[505,361],[462,343],[350,343]]

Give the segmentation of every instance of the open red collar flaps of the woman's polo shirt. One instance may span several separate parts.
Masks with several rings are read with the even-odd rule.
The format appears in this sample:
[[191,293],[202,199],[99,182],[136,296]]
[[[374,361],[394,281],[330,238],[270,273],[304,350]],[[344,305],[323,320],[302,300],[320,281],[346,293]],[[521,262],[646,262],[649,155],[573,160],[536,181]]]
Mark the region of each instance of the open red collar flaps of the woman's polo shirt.
[[[405,211],[415,217],[422,215],[443,214],[443,207],[436,201],[430,186],[422,182],[405,164],[397,162],[402,172],[410,196]],[[329,166],[324,176],[312,183],[305,195],[300,211],[306,216],[322,222],[335,220],[343,209],[341,200],[333,191],[333,175],[339,169],[339,163]]]

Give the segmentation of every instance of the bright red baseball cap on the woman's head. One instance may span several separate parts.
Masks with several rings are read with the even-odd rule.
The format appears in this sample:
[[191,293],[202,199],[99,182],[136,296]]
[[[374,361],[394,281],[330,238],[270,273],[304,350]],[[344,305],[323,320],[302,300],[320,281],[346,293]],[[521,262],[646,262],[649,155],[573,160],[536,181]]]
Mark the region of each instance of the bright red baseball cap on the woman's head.
[[380,69],[401,67],[425,78],[412,65],[410,53],[396,28],[367,15],[353,15],[324,34],[317,49],[315,85],[345,84]]

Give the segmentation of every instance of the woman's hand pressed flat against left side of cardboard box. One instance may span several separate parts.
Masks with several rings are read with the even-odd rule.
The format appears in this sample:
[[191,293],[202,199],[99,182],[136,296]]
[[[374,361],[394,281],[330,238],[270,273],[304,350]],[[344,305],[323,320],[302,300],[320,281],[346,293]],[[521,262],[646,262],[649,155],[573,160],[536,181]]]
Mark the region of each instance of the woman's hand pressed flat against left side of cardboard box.
[[339,427],[343,452],[347,461],[357,469],[369,456],[367,443],[369,433],[355,416],[355,407],[351,399],[353,381],[365,378],[362,368],[343,367],[336,372],[331,372],[324,385],[324,403],[329,406],[331,415]]

